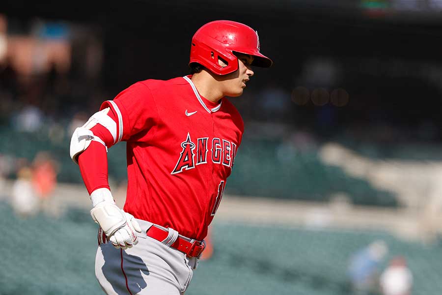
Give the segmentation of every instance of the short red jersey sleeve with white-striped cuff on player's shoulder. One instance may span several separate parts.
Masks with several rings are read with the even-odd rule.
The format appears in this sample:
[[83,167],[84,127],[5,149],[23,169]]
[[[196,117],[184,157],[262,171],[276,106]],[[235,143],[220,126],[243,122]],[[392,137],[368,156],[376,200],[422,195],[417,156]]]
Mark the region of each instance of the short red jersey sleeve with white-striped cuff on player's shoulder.
[[145,82],[137,82],[121,91],[113,100],[103,102],[100,110],[108,107],[117,116],[114,144],[129,141],[141,131],[149,131],[158,121],[155,99]]

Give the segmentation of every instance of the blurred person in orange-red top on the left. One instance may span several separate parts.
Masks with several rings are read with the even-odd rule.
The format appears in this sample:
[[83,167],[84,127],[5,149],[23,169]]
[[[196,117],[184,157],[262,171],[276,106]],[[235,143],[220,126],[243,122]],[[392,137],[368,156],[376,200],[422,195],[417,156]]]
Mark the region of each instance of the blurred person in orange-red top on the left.
[[51,205],[51,194],[57,182],[58,165],[46,151],[40,151],[32,163],[32,185],[40,200],[40,208],[51,213],[55,208]]

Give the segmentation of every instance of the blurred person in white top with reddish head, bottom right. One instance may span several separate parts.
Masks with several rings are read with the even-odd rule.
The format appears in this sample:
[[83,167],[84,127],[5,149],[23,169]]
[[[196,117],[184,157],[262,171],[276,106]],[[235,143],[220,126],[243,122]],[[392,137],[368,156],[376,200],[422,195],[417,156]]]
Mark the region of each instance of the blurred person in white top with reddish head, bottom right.
[[380,285],[383,295],[411,295],[413,275],[404,257],[390,260],[389,266],[382,273]]

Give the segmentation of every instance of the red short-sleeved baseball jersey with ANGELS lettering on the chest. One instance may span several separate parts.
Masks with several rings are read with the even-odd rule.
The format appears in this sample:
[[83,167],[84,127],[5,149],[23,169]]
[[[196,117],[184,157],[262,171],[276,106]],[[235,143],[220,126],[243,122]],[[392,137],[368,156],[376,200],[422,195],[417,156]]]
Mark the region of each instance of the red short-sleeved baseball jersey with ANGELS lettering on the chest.
[[102,104],[117,114],[127,142],[124,210],[136,218],[203,239],[221,202],[244,132],[226,99],[202,97],[191,76],[145,80]]

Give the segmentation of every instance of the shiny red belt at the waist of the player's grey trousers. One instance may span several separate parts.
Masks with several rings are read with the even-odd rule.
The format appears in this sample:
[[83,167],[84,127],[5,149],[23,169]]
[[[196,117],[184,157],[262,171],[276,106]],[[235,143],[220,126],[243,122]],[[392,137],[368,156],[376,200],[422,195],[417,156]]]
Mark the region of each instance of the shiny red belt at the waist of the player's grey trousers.
[[[146,231],[146,235],[162,242],[166,239],[168,231],[157,228],[153,225]],[[176,241],[170,247],[185,253],[188,257],[198,257],[204,250],[204,241],[189,240],[191,241],[186,240],[183,236],[178,236]]]

